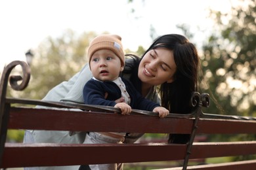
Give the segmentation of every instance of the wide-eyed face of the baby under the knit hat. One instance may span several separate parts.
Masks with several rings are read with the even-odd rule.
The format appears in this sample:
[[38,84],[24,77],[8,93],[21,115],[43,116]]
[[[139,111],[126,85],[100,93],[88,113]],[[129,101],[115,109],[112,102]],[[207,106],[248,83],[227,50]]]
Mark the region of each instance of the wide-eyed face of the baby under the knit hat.
[[91,72],[93,76],[100,81],[115,80],[123,66],[121,61],[111,50],[98,50],[91,57]]

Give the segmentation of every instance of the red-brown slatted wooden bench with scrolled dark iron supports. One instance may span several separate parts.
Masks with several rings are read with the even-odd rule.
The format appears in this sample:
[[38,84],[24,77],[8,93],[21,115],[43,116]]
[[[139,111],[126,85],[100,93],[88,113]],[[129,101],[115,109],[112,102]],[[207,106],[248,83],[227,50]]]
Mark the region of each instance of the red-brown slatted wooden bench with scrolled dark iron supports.
[[[16,65],[22,66],[23,76],[10,76]],[[18,84],[17,80],[22,80],[22,83]],[[202,107],[209,106],[209,95],[205,93],[195,92],[192,95],[191,105],[194,107],[194,111],[191,114],[170,114],[167,118],[158,118],[154,112],[133,110],[132,114],[123,116],[113,113],[114,111],[119,112],[119,110],[112,107],[6,97],[8,82],[14,90],[23,90],[29,80],[30,69],[23,61],[12,61],[5,67],[1,77],[1,168],[175,160],[183,160],[183,166],[169,169],[256,168],[256,160],[189,165],[191,159],[256,154],[256,141],[194,143],[196,135],[200,134],[256,133],[256,118],[203,113]],[[13,107],[14,103],[43,105],[49,109]],[[57,110],[50,107],[84,109],[85,111]],[[191,135],[188,144],[23,144],[6,143],[7,129],[189,133]]]

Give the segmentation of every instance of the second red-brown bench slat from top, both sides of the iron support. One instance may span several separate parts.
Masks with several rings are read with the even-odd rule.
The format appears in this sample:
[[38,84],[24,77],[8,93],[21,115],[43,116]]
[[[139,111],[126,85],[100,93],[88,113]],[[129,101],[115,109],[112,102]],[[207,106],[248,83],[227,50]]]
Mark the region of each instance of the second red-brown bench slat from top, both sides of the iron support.
[[[170,161],[184,159],[185,153],[185,144],[6,143],[3,167]],[[190,158],[212,158],[255,153],[256,141],[245,143],[194,143]]]

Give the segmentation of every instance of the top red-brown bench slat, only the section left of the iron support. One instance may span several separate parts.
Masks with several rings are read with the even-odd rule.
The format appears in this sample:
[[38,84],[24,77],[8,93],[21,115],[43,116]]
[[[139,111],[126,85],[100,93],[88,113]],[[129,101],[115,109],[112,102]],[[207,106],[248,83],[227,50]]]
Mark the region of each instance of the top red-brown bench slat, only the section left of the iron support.
[[102,112],[11,108],[9,129],[191,133],[193,119]]

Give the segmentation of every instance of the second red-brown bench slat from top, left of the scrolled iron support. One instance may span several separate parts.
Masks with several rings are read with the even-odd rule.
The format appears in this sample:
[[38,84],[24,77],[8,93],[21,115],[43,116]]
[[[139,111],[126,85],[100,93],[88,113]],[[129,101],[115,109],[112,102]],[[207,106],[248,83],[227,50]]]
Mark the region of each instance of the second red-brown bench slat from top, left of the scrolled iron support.
[[7,143],[3,153],[3,167],[182,160],[185,152],[185,144]]

